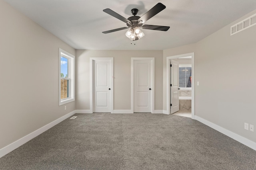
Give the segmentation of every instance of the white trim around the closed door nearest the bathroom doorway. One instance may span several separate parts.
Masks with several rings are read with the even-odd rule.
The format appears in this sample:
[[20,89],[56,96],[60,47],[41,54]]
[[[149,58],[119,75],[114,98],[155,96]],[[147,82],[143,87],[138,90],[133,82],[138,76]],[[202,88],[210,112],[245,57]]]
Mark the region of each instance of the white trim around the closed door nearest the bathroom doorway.
[[151,60],[152,61],[152,99],[151,99],[151,113],[155,109],[155,58],[154,57],[131,57],[131,111],[134,113],[134,60]]

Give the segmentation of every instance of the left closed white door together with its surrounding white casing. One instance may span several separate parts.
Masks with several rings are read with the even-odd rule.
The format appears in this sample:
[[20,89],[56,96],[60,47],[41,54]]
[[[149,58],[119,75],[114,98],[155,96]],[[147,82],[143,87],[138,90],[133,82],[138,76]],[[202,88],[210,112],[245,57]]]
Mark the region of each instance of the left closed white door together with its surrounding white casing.
[[113,58],[90,58],[91,109],[93,112],[113,113]]

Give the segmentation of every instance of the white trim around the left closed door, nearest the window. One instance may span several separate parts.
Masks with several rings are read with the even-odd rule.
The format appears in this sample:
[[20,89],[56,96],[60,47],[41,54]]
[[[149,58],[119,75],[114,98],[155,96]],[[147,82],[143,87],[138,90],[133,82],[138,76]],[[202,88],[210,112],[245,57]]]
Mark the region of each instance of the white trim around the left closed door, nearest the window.
[[94,86],[92,82],[92,74],[93,74],[93,61],[95,60],[110,60],[111,61],[111,110],[110,112],[113,113],[114,110],[114,58],[113,57],[90,57],[90,113],[93,113],[93,91]]

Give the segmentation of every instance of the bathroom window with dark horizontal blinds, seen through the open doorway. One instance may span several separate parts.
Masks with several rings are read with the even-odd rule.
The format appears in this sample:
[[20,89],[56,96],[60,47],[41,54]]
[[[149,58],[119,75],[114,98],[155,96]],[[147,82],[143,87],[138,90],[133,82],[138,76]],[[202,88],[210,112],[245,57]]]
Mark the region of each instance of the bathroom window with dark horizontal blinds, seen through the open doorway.
[[191,88],[191,66],[179,66],[179,87]]

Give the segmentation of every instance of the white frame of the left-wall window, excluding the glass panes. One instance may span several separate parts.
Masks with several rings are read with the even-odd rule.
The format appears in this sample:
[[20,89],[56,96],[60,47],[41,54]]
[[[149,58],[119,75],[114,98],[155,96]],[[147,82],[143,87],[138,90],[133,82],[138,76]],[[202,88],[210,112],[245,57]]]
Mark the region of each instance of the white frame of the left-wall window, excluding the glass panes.
[[[61,57],[68,59],[68,78],[60,77],[61,70]],[[61,99],[61,79],[68,81],[68,98]],[[75,56],[59,49],[59,106],[75,101]]]

